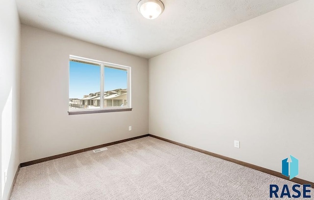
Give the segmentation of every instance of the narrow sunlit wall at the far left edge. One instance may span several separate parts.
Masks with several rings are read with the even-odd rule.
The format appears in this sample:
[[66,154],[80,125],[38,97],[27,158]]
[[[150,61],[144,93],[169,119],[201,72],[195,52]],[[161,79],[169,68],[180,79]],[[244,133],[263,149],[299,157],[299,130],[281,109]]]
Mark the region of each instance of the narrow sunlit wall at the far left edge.
[[[6,200],[19,159],[20,20],[15,0],[0,1],[0,199]],[[7,172],[5,180],[4,173]]]

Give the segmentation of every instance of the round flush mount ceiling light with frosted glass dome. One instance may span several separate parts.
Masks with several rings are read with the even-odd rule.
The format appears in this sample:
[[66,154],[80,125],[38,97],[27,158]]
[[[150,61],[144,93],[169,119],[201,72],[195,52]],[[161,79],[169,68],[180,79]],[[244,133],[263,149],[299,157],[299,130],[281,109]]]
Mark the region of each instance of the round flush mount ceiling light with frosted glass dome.
[[154,20],[163,12],[164,6],[160,0],[140,0],[137,10],[144,18]]

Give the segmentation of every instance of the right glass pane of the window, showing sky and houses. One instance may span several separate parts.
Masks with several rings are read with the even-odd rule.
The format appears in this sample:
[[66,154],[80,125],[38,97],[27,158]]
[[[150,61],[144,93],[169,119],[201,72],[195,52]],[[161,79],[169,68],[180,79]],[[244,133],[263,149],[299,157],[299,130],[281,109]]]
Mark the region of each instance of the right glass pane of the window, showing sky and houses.
[[104,108],[128,106],[128,71],[104,67]]

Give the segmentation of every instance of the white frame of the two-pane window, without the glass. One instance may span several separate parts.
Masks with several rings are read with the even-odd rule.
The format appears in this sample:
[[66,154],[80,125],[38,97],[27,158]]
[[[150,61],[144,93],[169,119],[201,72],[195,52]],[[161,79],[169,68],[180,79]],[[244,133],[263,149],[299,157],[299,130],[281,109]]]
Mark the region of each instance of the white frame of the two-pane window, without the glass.
[[[91,63],[91,64],[95,64],[95,65],[99,65],[101,67],[101,74],[100,74],[100,99],[101,99],[101,103],[100,103],[100,109],[81,109],[79,111],[68,111],[69,114],[87,114],[87,113],[99,113],[99,112],[116,112],[116,111],[131,111],[132,107],[131,107],[131,67],[128,66],[123,66],[123,65],[118,65],[118,64],[114,64],[114,63],[108,63],[108,62],[104,62],[104,61],[98,61],[98,60],[94,60],[94,59],[90,59],[90,58],[84,58],[84,57],[79,57],[79,56],[74,56],[74,55],[70,55],[69,60],[77,60],[77,61],[81,61],[81,62],[87,62],[87,63]],[[123,69],[123,70],[127,70],[127,107],[107,107],[104,108],[104,88],[105,88],[105,71],[104,71],[104,67],[111,67],[111,68],[116,68],[116,69]],[[70,80],[70,65],[69,65],[69,80]],[[68,92],[68,94],[70,93],[70,91]],[[70,97],[69,97],[70,98]],[[69,99],[68,98],[68,99]]]

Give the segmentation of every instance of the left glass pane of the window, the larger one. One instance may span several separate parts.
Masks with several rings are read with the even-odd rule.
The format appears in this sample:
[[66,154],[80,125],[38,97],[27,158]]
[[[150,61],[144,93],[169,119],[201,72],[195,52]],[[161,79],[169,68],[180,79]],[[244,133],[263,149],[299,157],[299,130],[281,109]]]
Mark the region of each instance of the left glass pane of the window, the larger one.
[[100,109],[100,66],[70,61],[69,110]]

